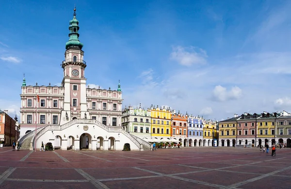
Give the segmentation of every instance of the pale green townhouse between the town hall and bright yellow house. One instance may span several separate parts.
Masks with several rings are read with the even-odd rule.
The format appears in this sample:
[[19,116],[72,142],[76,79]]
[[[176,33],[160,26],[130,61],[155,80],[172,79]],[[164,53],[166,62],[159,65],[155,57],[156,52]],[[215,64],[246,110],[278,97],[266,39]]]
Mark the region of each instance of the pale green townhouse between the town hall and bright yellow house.
[[122,110],[121,124],[124,130],[131,135],[140,137],[142,139],[149,139],[151,137],[151,112],[149,108],[146,110],[141,107],[141,104],[136,108],[125,107]]

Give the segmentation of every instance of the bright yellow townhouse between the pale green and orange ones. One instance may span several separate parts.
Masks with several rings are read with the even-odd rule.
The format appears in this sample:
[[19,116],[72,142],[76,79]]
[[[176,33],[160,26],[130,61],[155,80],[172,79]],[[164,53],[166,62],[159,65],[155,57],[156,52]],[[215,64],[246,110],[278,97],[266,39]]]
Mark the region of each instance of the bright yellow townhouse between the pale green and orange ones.
[[152,138],[170,138],[171,137],[171,111],[162,106],[156,108],[151,106],[151,133]]

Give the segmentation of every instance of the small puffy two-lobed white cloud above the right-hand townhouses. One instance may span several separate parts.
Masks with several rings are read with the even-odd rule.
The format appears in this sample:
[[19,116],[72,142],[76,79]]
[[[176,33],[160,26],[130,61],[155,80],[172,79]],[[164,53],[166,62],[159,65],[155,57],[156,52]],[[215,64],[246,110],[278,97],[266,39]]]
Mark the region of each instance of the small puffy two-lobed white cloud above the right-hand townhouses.
[[212,100],[214,101],[228,101],[239,99],[242,97],[242,89],[238,86],[232,87],[230,90],[227,91],[226,87],[223,86],[215,86],[212,91]]

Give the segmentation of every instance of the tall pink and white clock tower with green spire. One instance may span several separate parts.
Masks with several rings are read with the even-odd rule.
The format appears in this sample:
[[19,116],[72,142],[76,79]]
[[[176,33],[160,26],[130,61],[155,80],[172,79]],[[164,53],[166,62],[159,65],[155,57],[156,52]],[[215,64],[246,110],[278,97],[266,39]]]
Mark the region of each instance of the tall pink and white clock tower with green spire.
[[74,119],[86,119],[86,78],[84,70],[86,62],[83,60],[83,44],[79,41],[79,21],[76,18],[76,7],[73,19],[70,20],[69,40],[65,44],[65,60],[61,64],[64,69],[62,86],[65,87],[64,110],[60,124]]

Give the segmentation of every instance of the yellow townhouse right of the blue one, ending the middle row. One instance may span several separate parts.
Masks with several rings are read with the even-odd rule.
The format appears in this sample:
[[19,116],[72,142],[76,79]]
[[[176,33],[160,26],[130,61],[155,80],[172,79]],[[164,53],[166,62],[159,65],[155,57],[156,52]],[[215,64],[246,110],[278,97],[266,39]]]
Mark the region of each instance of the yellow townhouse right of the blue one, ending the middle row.
[[215,146],[217,140],[217,121],[203,120],[203,146]]

